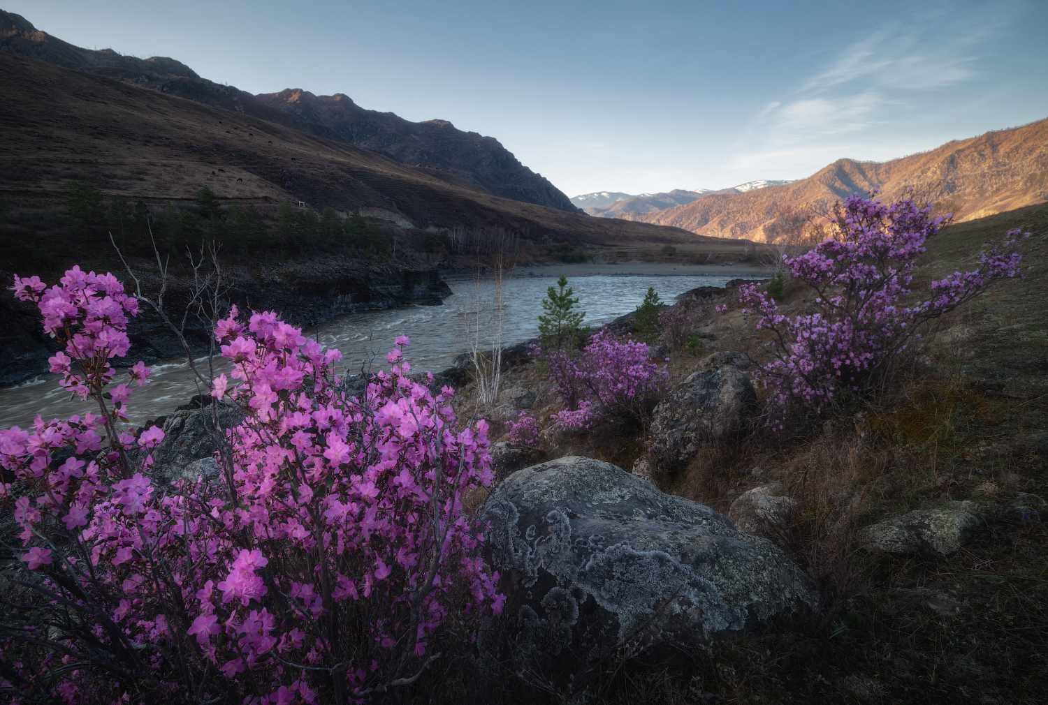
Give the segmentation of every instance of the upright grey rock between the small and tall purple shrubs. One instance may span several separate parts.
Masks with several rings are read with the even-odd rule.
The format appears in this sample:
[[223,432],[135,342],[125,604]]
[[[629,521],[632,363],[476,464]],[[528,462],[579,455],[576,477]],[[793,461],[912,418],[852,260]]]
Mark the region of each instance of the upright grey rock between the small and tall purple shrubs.
[[652,455],[659,467],[671,472],[682,469],[703,443],[738,433],[752,416],[757,393],[736,359],[749,363],[743,353],[711,355],[700,363],[702,369],[671,390],[655,407]]

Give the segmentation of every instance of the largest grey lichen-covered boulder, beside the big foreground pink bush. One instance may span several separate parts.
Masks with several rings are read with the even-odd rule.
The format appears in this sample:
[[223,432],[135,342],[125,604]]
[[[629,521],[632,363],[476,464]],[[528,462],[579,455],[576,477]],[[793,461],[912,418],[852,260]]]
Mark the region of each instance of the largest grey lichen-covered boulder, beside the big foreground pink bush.
[[771,542],[590,458],[515,472],[481,522],[525,651],[591,660],[627,641],[694,645],[816,602]]

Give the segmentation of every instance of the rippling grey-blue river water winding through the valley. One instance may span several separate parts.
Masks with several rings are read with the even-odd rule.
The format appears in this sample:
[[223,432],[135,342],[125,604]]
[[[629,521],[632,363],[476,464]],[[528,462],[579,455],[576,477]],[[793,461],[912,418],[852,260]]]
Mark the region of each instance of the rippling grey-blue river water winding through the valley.
[[[549,271],[550,273],[546,273]],[[538,315],[547,287],[554,285],[560,272],[554,267],[542,267],[538,273],[518,276],[503,286],[502,340],[512,345],[537,334]],[[648,287],[655,287],[663,303],[697,286],[723,286],[738,277],[738,272],[722,276],[589,276],[569,281],[578,299],[577,308],[586,311],[585,323],[598,326],[629,313],[640,305]],[[409,308],[363,311],[339,316],[326,324],[305,331],[326,347],[335,347],[343,353],[342,363],[350,373],[356,373],[368,360],[375,366],[386,366],[384,355],[397,335],[407,335],[411,345],[405,357],[416,372],[438,372],[446,368],[459,353],[468,348],[467,322],[476,325],[477,302],[481,302],[480,323],[487,328],[492,283],[479,285],[473,281],[449,282],[455,292],[442,306],[413,306]],[[472,316],[465,312],[472,312]],[[194,376],[184,358],[165,360],[152,366],[151,383],[136,389],[128,404],[129,420],[138,425],[146,419],[168,414],[191,396],[199,394]],[[206,370],[206,361],[201,362]],[[227,372],[230,365],[216,360],[215,374]],[[115,381],[126,381],[124,372],[117,371]],[[44,374],[29,381],[0,389],[0,428],[13,425],[27,427],[39,413],[45,419],[68,418],[97,407],[80,399],[69,399],[58,384],[59,376]]]

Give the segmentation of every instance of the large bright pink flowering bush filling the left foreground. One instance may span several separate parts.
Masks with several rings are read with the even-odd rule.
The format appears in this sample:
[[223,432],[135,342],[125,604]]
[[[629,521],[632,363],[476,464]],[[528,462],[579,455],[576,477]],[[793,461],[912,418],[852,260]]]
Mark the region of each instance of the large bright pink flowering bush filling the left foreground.
[[408,378],[407,338],[387,355],[390,372],[351,398],[333,374],[337,351],[275,313],[242,322],[234,308],[215,331],[232,380],[212,392],[247,414],[230,432],[232,466],[221,482],[157,487],[144,475],[151,459],[134,468],[128,451],[163,432],[117,434],[129,390],[106,390],[134,299],[79,268],[45,288],[14,287],[65,343],[51,358],[63,384],[101,415],[0,432],[0,499],[34,572],[18,582],[50,602],[0,618],[0,661],[19,664],[0,673],[0,692],[344,703],[411,683],[443,629],[467,636],[465,620],[501,611],[483,533],[460,503],[490,483],[486,426],[455,431],[452,391],[433,397]]

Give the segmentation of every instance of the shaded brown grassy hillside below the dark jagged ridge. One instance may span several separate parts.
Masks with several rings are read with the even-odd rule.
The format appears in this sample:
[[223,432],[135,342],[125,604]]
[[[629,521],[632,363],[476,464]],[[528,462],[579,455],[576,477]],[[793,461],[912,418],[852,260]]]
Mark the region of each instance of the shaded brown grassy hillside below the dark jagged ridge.
[[[502,227],[529,240],[576,244],[695,239],[676,228],[499,198],[453,174],[6,51],[0,51],[0,199],[23,235],[62,237],[57,208],[69,181],[87,179],[106,196],[153,207],[169,200],[191,206],[206,185],[223,204],[250,201],[266,217],[280,200],[343,215],[359,208],[394,237]],[[279,180],[282,171],[293,181],[290,190]],[[52,244],[72,246],[68,238]]]

